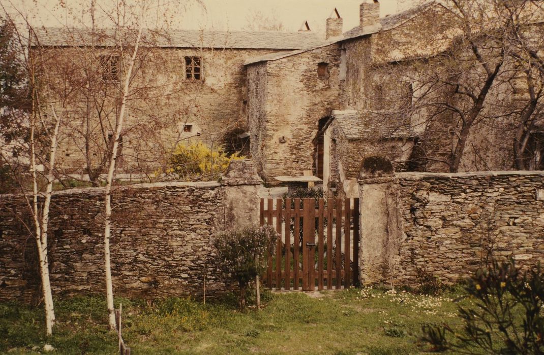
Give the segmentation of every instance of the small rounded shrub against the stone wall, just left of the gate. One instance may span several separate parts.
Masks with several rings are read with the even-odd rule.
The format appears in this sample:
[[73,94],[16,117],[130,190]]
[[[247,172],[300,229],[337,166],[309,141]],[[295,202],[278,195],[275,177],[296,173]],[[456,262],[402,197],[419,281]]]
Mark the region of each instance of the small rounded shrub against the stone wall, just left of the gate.
[[276,239],[271,226],[246,227],[214,236],[218,267],[225,277],[238,283],[240,308],[245,307],[248,284],[266,268],[266,256],[274,252]]

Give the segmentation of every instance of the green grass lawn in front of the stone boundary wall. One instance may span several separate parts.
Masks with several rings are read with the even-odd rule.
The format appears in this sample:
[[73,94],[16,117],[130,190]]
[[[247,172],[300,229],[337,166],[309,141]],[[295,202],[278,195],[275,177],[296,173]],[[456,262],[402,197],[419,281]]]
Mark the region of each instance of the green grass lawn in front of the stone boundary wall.
[[[221,302],[118,299],[123,305],[123,338],[133,354],[409,354],[430,345],[419,340],[423,324],[456,318],[456,293],[423,296],[385,290],[349,289],[304,293],[265,293],[265,306],[239,312],[229,297]],[[41,308],[0,303],[0,352],[110,353],[116,335],[107,331],[102,297],[55,302],[54,335],[44,335]]]

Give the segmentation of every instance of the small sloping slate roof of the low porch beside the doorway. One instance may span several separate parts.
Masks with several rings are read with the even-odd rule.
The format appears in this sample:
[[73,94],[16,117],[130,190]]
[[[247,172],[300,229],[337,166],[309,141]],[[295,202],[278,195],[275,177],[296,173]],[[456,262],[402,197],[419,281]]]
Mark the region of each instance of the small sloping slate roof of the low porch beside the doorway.
[[332,111],[334,121],[349,140],[380,140],[388,138],[415,138],[410,125],[386,112],[344,110]]

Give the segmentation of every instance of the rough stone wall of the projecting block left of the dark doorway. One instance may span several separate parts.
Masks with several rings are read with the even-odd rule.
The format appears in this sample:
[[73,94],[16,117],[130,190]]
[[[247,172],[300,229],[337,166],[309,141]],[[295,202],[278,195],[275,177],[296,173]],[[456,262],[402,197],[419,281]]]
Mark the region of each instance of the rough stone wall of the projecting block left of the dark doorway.
[[[322,62],[326,75],[319,78]],[[248,112],[251,153],[266,182],[314,169],[319,120],[339,104],[338,70],[336,43],[268,61],[265,67],[248,66],[250,78],[259,81],[249,87],[249,102],[260,105]],[[263,126],[265,130],[259,128]]]

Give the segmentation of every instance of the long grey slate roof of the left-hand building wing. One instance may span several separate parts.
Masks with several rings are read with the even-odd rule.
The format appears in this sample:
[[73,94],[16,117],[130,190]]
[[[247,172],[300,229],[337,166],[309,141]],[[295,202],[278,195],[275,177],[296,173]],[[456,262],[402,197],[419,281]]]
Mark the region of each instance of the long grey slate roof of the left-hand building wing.
[[[99,29],[91,34],[82,28],[40,28],[35,33],[41,46],[72,47],[115,46],[116,39],[125,42],[135,39],[135,31],[115,31]],[[94,40],[94,41],[93,41]],[[147,47],[176,48],[243,48],[243,49],[300,49],[316,46],[323,42],[314,33],[279,31],[208,31],[208,30],[169,30],[143,33],[142,45]]]

